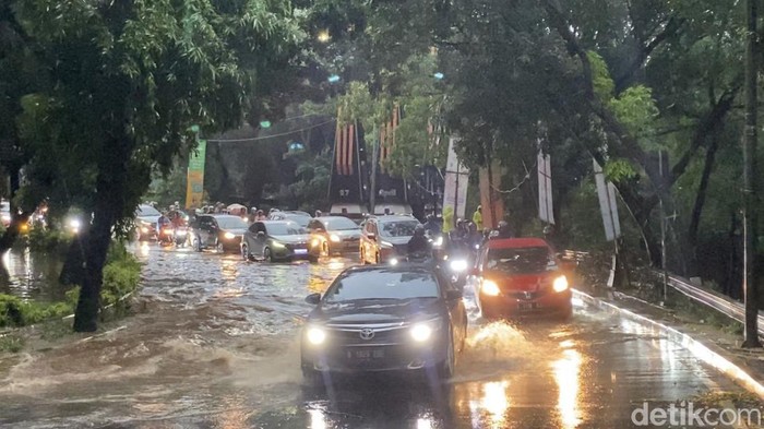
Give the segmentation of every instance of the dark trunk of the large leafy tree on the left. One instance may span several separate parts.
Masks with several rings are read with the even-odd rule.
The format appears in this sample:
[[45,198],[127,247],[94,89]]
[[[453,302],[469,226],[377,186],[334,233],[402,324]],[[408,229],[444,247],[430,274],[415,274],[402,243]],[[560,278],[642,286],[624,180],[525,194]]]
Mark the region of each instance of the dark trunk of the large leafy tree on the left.
[[110,139],[98,163],[93,225],[85,240],[85,275],[74,313],[75,332],[94,332],[98,327],[100,289],[104,284],[106,253],[111,229],[124,213],[128,165],[132,142],[124,135]]

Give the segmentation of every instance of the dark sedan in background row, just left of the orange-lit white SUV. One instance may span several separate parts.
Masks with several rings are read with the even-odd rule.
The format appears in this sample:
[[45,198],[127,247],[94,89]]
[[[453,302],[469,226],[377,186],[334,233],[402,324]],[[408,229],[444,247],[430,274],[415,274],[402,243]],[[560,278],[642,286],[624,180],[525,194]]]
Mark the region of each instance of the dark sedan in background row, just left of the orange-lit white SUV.
[[294,222],[255,222],[241,240],[241,255],[268,262],[308,259],[308,240],[310,236]]

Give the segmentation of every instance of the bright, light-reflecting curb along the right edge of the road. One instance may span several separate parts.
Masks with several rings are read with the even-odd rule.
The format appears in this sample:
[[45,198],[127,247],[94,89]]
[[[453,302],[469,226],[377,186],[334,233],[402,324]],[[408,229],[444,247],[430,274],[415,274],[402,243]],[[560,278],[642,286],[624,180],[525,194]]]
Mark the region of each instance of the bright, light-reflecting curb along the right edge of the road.
[[757,381],[749,372],[741,368],[740,364],[735,362],[735,359],[730,359],[724,356],[724,351],[720,348],[714,346],[707,346],[697,339],[691,337],[690,335],[678,331],[675,327],[665,325],[660,322],[656,322],[648,319],[642,314],[637,314],[633,311],[620,308],[602,299],[595,298],[592,295],[583,293],[581,290],[573,289],[573,296],[581,299],[590,306],[597,307],[605,310],[611,314],[619,314],[636,321],[643,325],[647,325],[654,330],[661,332],[666,337],[684,347],[690,353],[692,353],[697,359],[715,368],[723,374],[735,380],[739,385],[748,390],[749,392],[755,394],[761,400],[764,400],[764,384]]

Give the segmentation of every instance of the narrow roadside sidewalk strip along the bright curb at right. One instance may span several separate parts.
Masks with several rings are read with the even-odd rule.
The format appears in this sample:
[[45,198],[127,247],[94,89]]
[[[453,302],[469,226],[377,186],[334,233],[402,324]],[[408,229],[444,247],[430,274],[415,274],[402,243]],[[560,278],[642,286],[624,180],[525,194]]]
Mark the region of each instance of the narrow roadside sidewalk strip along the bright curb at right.
[[[740,344],[743,339],[741,334],[727,332],[721,327],[709,323],[708,321],[699,319],[693,320],[681,310],[673,310],[656,306],[640,298],[607,288],[607,286],[578,285],[576,289],[583,293],[580,294],[580,298],[585,301],[590,301],[588,302],[590,305],[625,310],[622,312],[626,317],[632,317],[635,319],[644,317],[650,321],[657,322],[659,325],[667,326],[669,330],[672,329],[681,334],[684,334],[684,337],[673,338],[681,342],[683,346],[691,346],[691,344],[687,343],[692,343],[692,339],[694,339],[700,345],[705,346],[712,351],[712,354],[706,353],[706,350],[699,350],[699,353],[704,355],[718,355],[718,357],[699,356],[699,358],[702,360],[711,359],[713,366],[727,373],[727,376],[736,379],[736,381],[743,385],[743,388],[756,393],[762,400],[764,400],[764,388],[762,388],[762,384],[764,384],[764,349],[760,348],[752,350],[741,348]],[[630,312],[634,314],[630,314]],[[667,330],[667,333],[670,334],[669,330]],[[702,349],[703,347],[699,348]],[[725,362],[725,360],[727,362]],[[749,383],[740,381],[741,377],[742,379],[745,377],[744,374],[739,374],[739,371],[750,376],[750,378],[754,381],[754,383],[751,384],[754,385],[744,385]],[[755,386],[755,384],[759,385]]]

